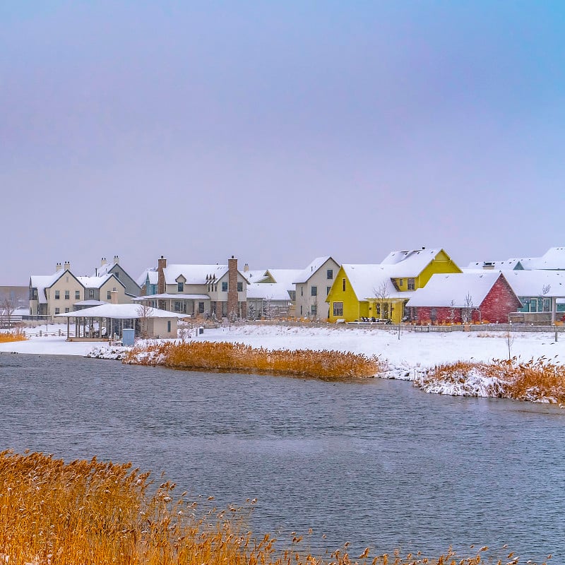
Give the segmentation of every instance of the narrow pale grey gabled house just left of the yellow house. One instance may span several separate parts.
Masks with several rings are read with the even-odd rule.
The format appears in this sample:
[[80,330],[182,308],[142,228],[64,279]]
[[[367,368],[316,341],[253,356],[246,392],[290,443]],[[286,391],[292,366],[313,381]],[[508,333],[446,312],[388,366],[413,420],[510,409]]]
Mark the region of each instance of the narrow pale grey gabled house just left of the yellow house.
[[339,268],[339,263],[331,256],[316,257],[307,268],[295,276],[292,284],[295,285],[296,292],[296,316],[314,320],[328,319],[329,306],[326,297]]

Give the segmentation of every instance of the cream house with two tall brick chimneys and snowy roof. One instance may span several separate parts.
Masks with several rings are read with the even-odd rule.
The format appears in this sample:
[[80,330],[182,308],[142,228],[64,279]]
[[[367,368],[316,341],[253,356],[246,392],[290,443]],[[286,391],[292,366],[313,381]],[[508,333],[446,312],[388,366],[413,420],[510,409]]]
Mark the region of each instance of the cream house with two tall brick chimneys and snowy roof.
[[[161,256],[156,270],[145,270],[145,294],[135,299],[153,307],[196,316],[246,317],[249,281],[237,269],[232,256],[227,265],[170,264]],[[155,289],[155,273],[157,287]],[[143,276],[143,274],[141,275]],[[138,281],[141,277],[138,278]],[[157,290],[147,294],[147,290]]]

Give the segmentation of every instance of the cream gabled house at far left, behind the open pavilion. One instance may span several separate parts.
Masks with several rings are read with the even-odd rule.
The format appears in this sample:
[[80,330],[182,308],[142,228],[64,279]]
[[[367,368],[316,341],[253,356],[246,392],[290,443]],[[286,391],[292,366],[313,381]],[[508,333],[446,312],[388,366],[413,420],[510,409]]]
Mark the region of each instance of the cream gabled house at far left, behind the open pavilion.
[[32,275],[29,285],[30,316],[56,316],[100,302],[110,302],[112,290],[119,303],[131,302],[114,273],[101,277],[77,277],[71,263],[57,263],[52,275]]

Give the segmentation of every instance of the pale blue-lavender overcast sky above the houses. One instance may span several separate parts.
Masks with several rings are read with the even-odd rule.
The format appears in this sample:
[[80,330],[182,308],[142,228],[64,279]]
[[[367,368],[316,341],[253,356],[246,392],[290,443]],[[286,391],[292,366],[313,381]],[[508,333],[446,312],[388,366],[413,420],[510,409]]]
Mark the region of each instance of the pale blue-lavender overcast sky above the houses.
[[562,1],[0,4],[0,285],[565,245]]

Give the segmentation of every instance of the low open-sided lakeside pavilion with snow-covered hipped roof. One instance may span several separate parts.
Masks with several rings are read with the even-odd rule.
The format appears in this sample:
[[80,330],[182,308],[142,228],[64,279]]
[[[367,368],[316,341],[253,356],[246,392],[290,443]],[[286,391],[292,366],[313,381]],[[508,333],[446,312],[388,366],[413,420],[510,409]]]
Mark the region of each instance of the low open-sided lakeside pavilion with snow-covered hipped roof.
[[[175,314],[139,304],[102,304],[65,314],[67,341],[107,341],[114,335],[121,336],[124,329],[135,330],[136,335],[147,338],[177,338],[177,321],[186,314]],[[75,335],[71,338],[71,318]]]

